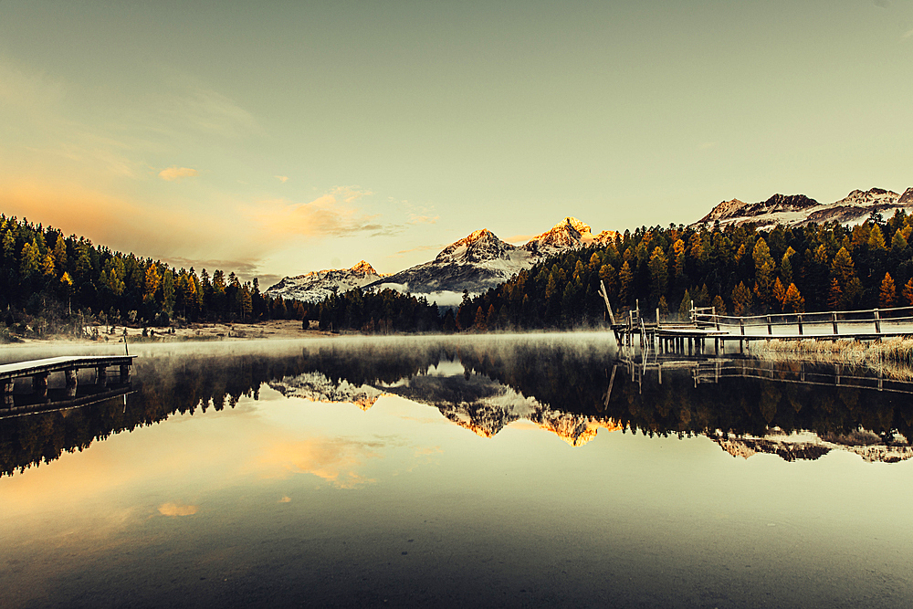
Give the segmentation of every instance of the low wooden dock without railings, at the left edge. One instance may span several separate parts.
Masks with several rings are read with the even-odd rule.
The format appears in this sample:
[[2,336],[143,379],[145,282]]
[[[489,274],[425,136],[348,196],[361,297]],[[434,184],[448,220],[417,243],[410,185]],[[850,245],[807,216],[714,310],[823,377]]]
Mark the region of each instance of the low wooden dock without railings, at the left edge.
[[16,379],[32,379],[32,390],[38,398],[47,396],[47,380],[52,373],[63,373],[68,394],[76,395],[78,371],[93,369],[95,385],[108,384],[108,369],[118,369],[118,383],[130,382],[130,368],[135,355],[71,355],[49,357],[29,362],[0,364],[0,409],[13,407],[13,387]]

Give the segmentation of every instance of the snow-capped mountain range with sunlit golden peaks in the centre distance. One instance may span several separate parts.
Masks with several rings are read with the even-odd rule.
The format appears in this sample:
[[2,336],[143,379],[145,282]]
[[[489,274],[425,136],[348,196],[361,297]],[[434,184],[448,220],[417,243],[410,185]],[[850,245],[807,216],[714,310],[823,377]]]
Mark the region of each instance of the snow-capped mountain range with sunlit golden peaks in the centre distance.
[[445,247],[434,260],[393,275],[379,275],[362,260],[348,269],[320,270],[283,278],[271,286],[267,294],[320,302],[333,291],[343,292],[356,287],[391,288],[425,296],[441,305],[455,305],[464,290],[473,295],[483,292],[553,254],[574,247],[605,244],[615,236],[614,231],[593,235],[589,225],[570,216],[522,246],[502,241],[483,228]]

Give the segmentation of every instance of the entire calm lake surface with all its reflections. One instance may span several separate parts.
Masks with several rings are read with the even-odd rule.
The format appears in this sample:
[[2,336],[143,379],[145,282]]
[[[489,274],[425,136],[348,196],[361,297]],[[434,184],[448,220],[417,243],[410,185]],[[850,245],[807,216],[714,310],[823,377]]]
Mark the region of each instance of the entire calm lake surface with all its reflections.
[[913,605],[909,394],[612,344],[131,347],[0,419],[0,605]]

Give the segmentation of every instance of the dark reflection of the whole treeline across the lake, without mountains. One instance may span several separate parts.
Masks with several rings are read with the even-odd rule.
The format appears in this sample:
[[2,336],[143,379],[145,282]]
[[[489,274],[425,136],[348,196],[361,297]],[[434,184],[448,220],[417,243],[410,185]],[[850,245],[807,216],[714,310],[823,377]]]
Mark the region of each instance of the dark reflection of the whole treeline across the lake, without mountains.
[[[913,436],[913,404],[904,394],[737,378],[695,386],[688,371],[664,372],[662,383],[648,374],[637,383],[619,368],[606,402],[616,362],[606,350],[571,341],[333,341],[294,356],[143,358],[135,364],[134,393],[126,405],[117,398],[0,420],[0,473],[50,462],[65,451],[83,450],[96,440],[174,413],[232,408],[242,396],[257,399],[263,383],[303,373],[321,373],[331,383],[383,386],[456,361],[466,369],[466,386],[459,376],[444,385],[436,383],[435,400],[468,401],[477,394],[469,382],[475,373],[534,398],[550,411],[586,415],[646,435],[712,436],[722,430],[764,436],[779,427],[787,433],[809,430],[823,438],[851,436],[860,428],[886,442],[897,433]],[[422,385],[413,383],[415,391]]]

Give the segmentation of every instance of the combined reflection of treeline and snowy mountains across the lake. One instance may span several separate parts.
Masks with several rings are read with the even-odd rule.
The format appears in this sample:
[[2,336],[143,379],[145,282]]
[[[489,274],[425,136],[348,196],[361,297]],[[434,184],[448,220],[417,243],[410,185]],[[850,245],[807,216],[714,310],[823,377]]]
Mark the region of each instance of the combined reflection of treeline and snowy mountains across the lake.
[[906,394],[792,382],[793,362],[774,366],[767,378],[714,383],[696,383],[687,369],[663,372],[659,383],[655,373],[638,375],[616,364],[604,341],[576,336],[326,341],[292,354],[146,356],[135,364],[126,405],[119,397],[0,421],[0,473],[175,413],[234,407],[243,395],[257,399],[263,383],[286,395],[365,409],[383,394],[401,395],[485,437],[524,419],[572,446],[608,428],[708,436],[739,457],[763,452],[809,459],[835,449],[873,461],[911,455],[913,401]]

